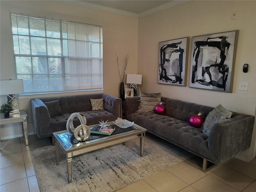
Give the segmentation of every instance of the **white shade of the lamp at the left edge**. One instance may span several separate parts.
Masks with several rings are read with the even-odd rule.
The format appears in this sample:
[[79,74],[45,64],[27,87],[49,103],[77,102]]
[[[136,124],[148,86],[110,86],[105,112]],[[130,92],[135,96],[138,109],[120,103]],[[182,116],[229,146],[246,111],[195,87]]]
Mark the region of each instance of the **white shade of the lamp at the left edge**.
[[0,80],[0,95],[24,93],[23,79]]

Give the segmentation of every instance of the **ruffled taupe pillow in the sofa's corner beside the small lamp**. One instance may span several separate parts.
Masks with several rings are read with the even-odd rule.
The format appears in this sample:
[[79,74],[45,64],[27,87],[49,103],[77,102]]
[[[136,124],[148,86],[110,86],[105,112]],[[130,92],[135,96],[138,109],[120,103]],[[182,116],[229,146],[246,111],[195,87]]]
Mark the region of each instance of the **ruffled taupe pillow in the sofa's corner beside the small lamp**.
[[136,112],[150,113],[154,112],[155,107],[161,102],[161,93],[144,93],[139,94],[139,108]]

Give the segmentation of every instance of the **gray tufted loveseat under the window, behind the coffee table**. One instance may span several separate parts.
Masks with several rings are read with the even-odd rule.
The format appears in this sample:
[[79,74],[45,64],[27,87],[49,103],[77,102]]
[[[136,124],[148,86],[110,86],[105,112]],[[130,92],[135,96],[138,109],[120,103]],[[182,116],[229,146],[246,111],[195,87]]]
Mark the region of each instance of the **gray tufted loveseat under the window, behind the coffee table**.
[[[90,99],[103,98],[104,110],[92,111]],[[45,102],[58,101],[60,111],[50,116]],[[122,100],[108,94],[87,94],[76,96],[60,96],[31,99],[31,115],[36,134],[39,138],[50,137],[53,132],[66,129],[66,122],[74,112],[85,115],[87,125],[98,124],[99,121],[114,121],[122,117]],[[57,115],[56,115],[57,114]],[[74,119],[74,126],[80,124],[78,118]]]

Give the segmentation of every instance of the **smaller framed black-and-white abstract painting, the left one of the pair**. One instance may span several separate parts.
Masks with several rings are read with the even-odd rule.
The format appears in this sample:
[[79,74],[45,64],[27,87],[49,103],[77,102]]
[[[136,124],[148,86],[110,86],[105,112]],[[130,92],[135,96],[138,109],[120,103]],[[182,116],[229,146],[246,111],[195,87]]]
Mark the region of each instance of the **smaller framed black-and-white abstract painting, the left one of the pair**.
[[186,86],[188,39],[159,42],[158,83]]

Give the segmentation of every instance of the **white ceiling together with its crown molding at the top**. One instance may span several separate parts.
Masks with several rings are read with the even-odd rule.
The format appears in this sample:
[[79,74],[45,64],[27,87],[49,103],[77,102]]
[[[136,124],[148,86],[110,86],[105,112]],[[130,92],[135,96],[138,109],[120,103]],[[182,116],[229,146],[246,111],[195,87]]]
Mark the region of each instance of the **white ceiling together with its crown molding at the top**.
[[65,3],[140,18],[189,0],[60,0]]

